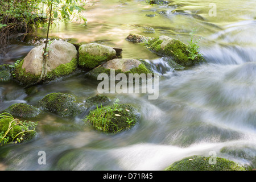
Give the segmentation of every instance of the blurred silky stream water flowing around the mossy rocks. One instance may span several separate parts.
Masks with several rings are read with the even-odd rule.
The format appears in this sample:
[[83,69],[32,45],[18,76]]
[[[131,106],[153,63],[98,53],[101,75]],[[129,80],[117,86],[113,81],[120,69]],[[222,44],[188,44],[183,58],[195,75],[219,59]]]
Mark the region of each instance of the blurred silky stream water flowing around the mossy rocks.
[[[139,0],[95,1],[84,12],[87,26],[73,22],[53,28],[51,35],[119,47],[123,58],[145,59],[153,68],[160,65],[155,70],[162,75],[159,98],[107,94],[112,102],[119,98],[136,105],[141,113],[133,129],[115,135],[85,125],[86,113],[75,118],[43,113],[35,118],[39,124],[34,140],[0,148],[1,169],[163,170],[187,156],[209,156],[210,151],[255,168],[256,2],[172,2],[152,6]],[[209,15],[209,3],[216,5],[216,16]],[[193,28],[197,37],[203,37],[199,45],[207,63],[183,71],[168,68],[161,57],[125,40],[129,33],[137,33],[167,35],[187,43]],[[13,63],[33,47],[11,46],[2,63]],[[37,85],[30,94],[15,82],[1,83],[0,110],[17,102],[38,106],[52,92],[73,93],[82,102],[97,94],[97,83],[84,74]],[[46,165],[38,164],[39,151],[46,152]]]

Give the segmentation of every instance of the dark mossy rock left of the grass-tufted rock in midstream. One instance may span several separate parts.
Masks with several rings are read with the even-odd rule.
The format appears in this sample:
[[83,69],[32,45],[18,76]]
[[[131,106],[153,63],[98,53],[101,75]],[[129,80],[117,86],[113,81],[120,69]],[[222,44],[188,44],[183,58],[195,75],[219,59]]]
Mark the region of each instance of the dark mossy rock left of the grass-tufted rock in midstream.
[[39,101],[44,111],[61,117],[77,116],[86,108],[76,102],[76,97],[67,93],[50,93]]

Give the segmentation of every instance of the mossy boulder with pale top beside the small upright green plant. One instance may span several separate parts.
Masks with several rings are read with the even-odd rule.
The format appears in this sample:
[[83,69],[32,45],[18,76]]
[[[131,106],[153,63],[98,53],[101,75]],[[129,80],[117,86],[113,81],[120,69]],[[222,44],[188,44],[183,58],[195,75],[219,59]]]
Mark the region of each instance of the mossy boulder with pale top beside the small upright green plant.
[[203,61],[203,56],[197,59],[189,58],[188,46],[180,40],[168,36],[159,36],[145,43],[152,52],[164,57],[171,57],[177,64],[187,67]]

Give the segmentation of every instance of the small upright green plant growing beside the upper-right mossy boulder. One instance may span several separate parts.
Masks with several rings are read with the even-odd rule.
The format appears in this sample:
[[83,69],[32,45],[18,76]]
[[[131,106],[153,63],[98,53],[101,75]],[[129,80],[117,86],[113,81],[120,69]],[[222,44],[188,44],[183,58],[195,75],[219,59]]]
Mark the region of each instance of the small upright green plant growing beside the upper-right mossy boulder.
[[201,55],[201,53],[199,53],[199,46],[197,44],[201,41],[201,39],[196,39],[194,34],[195,34],[195,29],[189,33],[190,40],[187,40],[187,42],[189,43],[187,48],[187,51],[189,52],[188,58],[191,60],[200,59],[203,56]]

